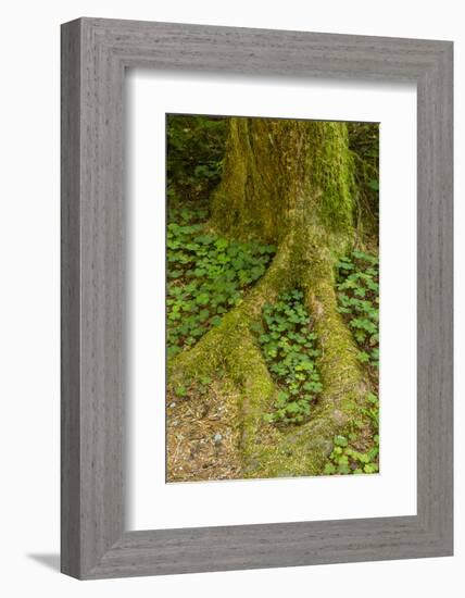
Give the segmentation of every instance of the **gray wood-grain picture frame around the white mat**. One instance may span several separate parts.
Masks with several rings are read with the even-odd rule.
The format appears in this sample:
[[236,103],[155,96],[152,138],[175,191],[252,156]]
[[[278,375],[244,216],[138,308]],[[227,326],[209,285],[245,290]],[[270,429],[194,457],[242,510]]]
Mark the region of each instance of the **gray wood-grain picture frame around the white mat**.
[[[452,51],[450,41],[167,23],[62,26],[63,573],[90,580],[452,555]],[[417,85],[416,515],[125,530],[128,67]]]

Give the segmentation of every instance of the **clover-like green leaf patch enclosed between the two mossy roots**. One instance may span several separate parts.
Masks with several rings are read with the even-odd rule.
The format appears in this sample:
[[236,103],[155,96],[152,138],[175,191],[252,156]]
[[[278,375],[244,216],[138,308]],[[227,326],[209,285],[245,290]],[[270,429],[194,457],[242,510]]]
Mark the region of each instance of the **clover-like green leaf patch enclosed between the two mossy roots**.
[[299,289],[279,296],[263,308],[263,322],[255,327],[268,370],[279,388],[274,412],[265,421],[301,424],[311,416],[322,390],[315,359],[319,351],[312,320]]

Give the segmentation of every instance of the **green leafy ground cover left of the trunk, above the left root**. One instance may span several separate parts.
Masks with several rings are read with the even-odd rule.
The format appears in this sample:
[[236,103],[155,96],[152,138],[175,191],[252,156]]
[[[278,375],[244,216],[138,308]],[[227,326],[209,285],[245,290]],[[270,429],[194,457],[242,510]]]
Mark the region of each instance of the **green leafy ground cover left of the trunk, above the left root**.
[[241,301],[265,272],[276,248],[204,232],[205,208],[168,210],[167,353],[192,347]]

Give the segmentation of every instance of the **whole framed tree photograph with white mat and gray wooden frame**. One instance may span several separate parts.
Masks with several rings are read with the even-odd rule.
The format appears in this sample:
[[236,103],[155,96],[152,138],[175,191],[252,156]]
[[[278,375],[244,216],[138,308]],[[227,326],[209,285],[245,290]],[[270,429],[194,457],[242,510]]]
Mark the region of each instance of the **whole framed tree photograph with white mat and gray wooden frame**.
[[450,556],[452,42],[62,26],[62,571]]

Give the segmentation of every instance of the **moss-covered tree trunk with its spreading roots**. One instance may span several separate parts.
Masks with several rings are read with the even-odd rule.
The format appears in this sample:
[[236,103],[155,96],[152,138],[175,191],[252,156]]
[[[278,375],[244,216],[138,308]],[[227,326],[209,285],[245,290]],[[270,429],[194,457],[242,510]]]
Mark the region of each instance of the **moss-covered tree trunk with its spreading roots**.
[[[169,364],[171,383],[222,372],[237,389],[243,476],[322,472],[335,434],[364,421],[367,383],[337,311],[335,261],[353,245],[353,160],[344,123],[231,119],[210,227],[277,246],[273,263],[219,326]],[[263,421],[276,393],[250,325],[265,302],[304,291],[319,338],[323,396],[312,420],[276,429]],[[272,428],[272,429],[271,429]],[[272,443],[261,438],[273,436]]]

